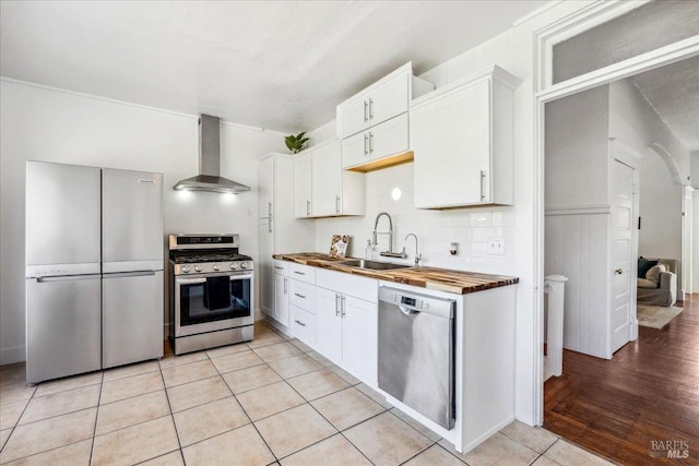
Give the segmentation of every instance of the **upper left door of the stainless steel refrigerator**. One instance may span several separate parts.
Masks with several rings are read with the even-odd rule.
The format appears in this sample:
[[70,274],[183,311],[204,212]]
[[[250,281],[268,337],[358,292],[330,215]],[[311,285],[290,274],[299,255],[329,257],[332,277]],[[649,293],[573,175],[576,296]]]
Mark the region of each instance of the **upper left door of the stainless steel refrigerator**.
[[26,276],[99,273],[99,168],[26,163]]

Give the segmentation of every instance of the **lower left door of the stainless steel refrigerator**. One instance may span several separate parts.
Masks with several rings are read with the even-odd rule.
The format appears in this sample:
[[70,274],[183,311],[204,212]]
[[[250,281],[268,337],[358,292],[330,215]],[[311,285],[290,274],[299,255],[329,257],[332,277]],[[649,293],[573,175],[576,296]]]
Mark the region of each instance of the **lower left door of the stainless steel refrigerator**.
[[99,370],[99,274],[26,280],[26,381]]

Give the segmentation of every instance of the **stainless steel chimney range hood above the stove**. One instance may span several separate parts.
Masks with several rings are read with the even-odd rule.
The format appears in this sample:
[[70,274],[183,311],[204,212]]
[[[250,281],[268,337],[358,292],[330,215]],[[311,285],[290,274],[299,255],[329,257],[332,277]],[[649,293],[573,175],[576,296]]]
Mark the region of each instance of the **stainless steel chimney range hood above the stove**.
[[218,117],[199,117],[199,175],[180,180],[176,190],[238,194],[250,187],[221,177],[221,122]]

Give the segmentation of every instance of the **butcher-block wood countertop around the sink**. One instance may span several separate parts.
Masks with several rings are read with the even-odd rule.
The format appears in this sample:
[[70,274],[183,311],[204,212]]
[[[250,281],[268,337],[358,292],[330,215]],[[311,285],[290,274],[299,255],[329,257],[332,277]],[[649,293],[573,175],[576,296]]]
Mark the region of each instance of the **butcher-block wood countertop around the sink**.
[[273,258],[282,261],[295,262],[297,264],[329,268],[353,275],[453,292],[457,295],[483,291],[484,289],[514,285],[520,282],[517,277],[437,267],[407,267],[393,268],[389,271],[359,268],[341,264],[342,261],[348,261],[356,258],[333,259],[328,256],[328,254],[319,252],[274,254]]

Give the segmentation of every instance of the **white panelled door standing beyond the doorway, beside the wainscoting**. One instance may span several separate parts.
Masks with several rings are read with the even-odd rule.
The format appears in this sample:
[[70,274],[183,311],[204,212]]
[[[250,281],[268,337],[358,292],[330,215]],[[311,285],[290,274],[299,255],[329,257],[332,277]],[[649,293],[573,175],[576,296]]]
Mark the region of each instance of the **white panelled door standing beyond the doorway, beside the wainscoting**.
[[611,332],[612,353],[616,351],[635,334],[636,300],[633,287],[636,170],[616,159],[611,167],[609,199],[612,201],[612,302]]

